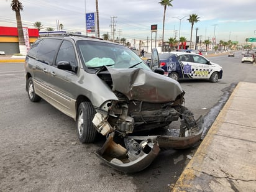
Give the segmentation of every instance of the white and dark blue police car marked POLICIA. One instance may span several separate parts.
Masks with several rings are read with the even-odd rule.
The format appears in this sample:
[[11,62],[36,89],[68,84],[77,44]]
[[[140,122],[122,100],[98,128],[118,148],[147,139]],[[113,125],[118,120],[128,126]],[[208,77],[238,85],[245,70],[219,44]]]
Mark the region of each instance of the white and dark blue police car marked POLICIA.
[[165,76],[180,79],[208,79],[216,83],[222,78],[222,67],[197,53],[168,52],[159,54]]

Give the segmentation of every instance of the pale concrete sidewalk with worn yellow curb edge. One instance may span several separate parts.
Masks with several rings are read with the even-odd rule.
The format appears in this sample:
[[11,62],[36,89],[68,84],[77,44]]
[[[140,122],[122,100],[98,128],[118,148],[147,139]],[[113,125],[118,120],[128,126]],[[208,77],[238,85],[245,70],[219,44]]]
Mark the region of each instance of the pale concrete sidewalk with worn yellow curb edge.
[[256,84],[240,82],[171,191],[256,191]]

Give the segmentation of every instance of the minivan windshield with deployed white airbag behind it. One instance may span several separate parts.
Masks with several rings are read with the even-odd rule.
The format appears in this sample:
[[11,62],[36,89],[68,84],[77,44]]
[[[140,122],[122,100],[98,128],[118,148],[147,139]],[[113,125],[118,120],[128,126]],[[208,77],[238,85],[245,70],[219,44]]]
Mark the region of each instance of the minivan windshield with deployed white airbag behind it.
[[109,42],[79,40],[78,52],[85,68],[101,66],[111,68],[142,68],[150,70],[144,61],[130,48]]

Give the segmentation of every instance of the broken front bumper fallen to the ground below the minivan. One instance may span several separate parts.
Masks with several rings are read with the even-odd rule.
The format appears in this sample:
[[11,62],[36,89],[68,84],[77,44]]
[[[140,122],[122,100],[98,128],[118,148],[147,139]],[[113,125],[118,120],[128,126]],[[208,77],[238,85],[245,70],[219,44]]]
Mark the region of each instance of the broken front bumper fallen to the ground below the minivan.
[[186,149],[196,144],[203,134],[203,117],[199,117],[196,125],[182,137],[169,135],[128,136],[124,139],[125,147],[114,142],[114,132],[109,134],[103,147],[96,155],[110,167],[134,173],[147,168],[157,157],[161,147]]

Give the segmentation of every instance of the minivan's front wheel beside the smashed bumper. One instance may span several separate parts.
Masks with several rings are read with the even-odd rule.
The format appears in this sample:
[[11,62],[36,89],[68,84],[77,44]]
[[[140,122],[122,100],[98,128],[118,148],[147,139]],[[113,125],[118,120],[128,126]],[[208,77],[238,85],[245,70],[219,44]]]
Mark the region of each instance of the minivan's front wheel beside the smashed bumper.
[[94,142],[98,135],[97,130],[93,126],[93,117],[95,110],[90,102],[82,102],[78,107],[76,116],[76,132],[78,139],[82,144]]

